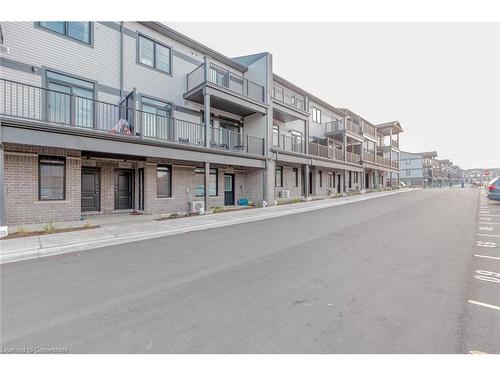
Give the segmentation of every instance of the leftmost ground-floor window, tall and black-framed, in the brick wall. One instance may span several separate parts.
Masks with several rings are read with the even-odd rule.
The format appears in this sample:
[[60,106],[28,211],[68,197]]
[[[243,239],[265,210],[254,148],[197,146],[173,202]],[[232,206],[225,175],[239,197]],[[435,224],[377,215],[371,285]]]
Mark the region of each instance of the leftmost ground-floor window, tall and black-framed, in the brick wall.
[[65,199],[65,159],[40,156],[38,160],[38,199],[53,201]]

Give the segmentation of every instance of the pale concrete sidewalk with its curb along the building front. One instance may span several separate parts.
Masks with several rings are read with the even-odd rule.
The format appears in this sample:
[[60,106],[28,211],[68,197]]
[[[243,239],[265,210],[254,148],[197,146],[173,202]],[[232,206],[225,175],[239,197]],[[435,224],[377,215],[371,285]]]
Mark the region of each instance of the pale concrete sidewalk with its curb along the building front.
[[114,219],[95,217],[88,221],[90,224],[100,225],[100,228],[2,240],[0,241],[0,264],[265,220],[415,190],[418,189],[400,189],[163,221],[155,220],[156,216],[123,215]]

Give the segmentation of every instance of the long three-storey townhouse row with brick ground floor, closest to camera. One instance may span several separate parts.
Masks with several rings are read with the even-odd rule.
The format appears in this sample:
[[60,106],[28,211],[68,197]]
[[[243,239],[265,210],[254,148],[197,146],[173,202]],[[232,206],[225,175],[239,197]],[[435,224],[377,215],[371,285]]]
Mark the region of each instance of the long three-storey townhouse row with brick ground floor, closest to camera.
[[0,23],[2,225],[398,185],[373,124],[158,22]]

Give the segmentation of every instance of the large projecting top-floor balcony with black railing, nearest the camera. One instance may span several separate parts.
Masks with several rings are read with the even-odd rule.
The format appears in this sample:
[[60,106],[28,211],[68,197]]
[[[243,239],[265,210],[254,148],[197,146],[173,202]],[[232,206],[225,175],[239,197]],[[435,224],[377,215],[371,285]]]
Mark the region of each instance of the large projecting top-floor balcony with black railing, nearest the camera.
[[213,108],[240,116],[266,113],[264,86],[212,62],[201,64],[187,75],[184,98],[204,104],[204,88],[211,94]]

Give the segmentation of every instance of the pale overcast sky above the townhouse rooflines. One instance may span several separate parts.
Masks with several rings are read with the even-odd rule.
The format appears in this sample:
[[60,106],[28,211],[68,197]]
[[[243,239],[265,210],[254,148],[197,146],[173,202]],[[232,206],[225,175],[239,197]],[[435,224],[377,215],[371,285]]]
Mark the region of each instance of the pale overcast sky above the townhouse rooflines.
[[273,55],[274,72],[372,123],[400,147],[462,168],[500,167],[498,23],[172,23],[229,56]]

